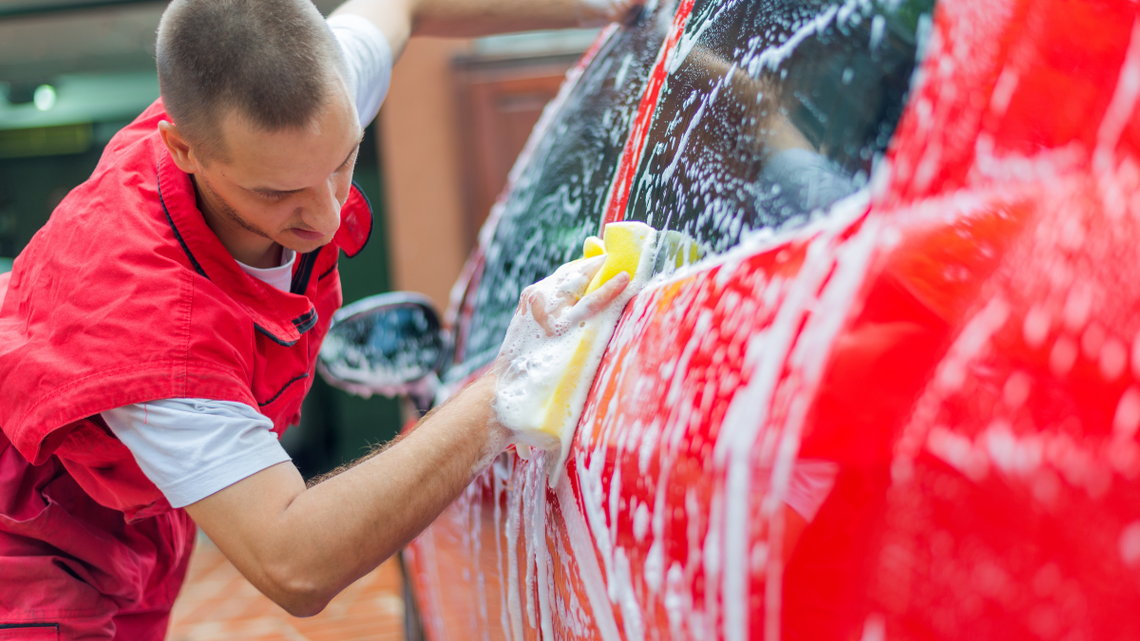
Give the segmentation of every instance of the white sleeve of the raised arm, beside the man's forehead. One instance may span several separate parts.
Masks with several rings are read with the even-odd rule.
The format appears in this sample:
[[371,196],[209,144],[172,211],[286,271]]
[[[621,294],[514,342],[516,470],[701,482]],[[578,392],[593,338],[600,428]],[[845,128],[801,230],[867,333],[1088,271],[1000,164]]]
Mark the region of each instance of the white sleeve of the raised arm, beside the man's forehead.
[[380,29],[367,18],[340,14],[327,22],[344,54],[349,89],[356,92],[360,127],[368,127],[388,96],[392,81],[392,49]]

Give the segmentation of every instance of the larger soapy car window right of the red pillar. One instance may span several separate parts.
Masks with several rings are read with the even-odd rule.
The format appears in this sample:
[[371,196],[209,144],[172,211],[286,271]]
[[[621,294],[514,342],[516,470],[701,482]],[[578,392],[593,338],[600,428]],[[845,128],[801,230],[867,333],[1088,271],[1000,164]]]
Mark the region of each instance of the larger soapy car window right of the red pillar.
[[902,114],[934,0],[698,0],[627,220],[722,251],[863,186]]

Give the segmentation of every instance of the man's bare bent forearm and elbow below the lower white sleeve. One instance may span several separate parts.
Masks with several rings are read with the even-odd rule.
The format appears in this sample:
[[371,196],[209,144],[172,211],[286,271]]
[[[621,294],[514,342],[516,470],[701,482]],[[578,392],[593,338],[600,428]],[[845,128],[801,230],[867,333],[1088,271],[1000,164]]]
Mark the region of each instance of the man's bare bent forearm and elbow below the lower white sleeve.
[[494,389],[494,375],[479,379],[396,446],[311,488],[280,463],[186,510],[258,590],[290,614],[317,614],[427,527],[498,452]]

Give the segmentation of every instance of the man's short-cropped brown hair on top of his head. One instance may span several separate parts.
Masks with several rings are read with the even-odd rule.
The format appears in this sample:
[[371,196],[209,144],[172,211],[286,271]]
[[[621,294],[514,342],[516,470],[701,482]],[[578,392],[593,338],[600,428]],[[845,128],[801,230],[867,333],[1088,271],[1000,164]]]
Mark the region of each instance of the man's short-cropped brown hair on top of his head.
[[266,131],[319,114],[336,39],[310,0],[173,0],[158,25],[158,86],[166,113],[203,160],[225,157],[230,112]]

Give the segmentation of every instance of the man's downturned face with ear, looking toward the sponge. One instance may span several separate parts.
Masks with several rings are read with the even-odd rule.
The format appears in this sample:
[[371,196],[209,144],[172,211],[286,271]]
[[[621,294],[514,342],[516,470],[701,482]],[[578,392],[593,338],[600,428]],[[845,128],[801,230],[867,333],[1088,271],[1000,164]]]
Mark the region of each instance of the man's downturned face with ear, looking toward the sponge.
[[195,171],[203,213],[238,260],[258,267],[274,243],[310,252],[340,227],[361,130],[337,83],[312,124],[267,132],[236,114],[221,123],[227,157]]

